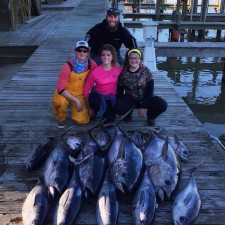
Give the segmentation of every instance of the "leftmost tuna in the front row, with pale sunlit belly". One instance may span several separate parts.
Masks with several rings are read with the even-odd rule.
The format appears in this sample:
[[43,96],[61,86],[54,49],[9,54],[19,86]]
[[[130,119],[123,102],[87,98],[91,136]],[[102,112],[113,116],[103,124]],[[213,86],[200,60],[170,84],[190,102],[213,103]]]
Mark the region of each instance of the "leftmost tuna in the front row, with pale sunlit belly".
[[22,219],[24,225],[42,225],[48,211],[48,191],[43,181],[30,191],[23,204]]

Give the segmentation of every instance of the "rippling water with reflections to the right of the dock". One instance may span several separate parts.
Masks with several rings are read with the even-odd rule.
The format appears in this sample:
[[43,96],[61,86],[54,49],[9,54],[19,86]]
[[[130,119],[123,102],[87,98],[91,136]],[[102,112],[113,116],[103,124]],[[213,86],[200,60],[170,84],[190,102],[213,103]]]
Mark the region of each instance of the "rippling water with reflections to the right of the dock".
[[[130,28],[138,42],[143,42],[143,30]],[[214,41],[216,31],[209,30],[205,40]],[[222,31],[222,37],[225,32]],[[197,38],[196,38],[197,39]],[[159,42],[169,41],[168,30],[160,30]],[[188,41],[188,33],[184,41]],[[157,57],[157,69],[167,72],[167,79],[178,95],[204,124],[209,134],[217,138],[225,134],[225,84],[222,58]]]

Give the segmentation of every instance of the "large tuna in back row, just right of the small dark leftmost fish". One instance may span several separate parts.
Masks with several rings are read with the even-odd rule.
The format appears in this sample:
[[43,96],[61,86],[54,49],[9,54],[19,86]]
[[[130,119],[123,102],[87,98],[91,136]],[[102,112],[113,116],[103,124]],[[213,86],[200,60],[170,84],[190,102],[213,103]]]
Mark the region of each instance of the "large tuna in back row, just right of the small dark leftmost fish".
[[59,143],[46,161],[44,178],[53,197],[61,195],[69,181],[69,154]]

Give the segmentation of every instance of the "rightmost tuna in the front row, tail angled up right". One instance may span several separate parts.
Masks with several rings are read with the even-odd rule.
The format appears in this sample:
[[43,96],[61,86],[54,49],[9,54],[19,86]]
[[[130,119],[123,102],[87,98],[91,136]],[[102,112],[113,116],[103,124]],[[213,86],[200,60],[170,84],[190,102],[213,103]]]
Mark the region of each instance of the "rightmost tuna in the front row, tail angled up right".
[[193,177],[193,172],[201,165],[189,170],[190,178],[185,187],[178,193],[173,204],[173,221],[175,225],[193,224],[199,215],[201,198],[198,187]]

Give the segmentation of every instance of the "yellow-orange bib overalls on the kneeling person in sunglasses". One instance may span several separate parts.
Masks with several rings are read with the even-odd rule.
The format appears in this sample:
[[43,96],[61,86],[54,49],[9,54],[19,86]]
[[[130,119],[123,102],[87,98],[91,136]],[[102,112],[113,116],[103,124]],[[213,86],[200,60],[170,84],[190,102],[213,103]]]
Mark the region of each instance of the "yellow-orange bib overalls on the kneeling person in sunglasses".
[[74,101],[71,101],[70,99],[65,98],[63,95],[60,95],[57,93],[57,91],[55,91],[55,94],[52,100],[53,113],[56,116],[56,120],[58,122],[62,122],[66,120],[67,108],[68,106],[70,106],[71,119],[78,124],[86,124],[90,121],[90,117],[88,114],[86,102],[84,100],[83,87],[87,79],[87,76],[90,72],[90,62],[88,65],[88,70],[79,74],[74,72],[73,66],[69,62],[67,63],[70,66],[71,74],[65,89],[80,100],[80,102],[83,105],[83,110],[78,112],[76,103]]

